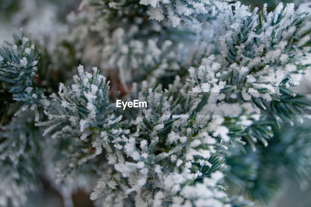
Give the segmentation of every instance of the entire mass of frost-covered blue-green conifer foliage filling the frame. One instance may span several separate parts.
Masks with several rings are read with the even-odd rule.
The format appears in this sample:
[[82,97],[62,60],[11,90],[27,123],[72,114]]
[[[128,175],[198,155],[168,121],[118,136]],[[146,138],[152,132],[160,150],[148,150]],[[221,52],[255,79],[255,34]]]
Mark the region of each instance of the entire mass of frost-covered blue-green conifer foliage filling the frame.
[[[99,206],[224,207],[309,178],[308,130],[287,124],[311,109],[290,90],[310,74],[310,4],[92,2],[55,50],[23,34],[0,49],[0,205],[22,205],[40,176],[67,197],[84,180]],[[107,78],[79,65],[72,83],[82,62]]]

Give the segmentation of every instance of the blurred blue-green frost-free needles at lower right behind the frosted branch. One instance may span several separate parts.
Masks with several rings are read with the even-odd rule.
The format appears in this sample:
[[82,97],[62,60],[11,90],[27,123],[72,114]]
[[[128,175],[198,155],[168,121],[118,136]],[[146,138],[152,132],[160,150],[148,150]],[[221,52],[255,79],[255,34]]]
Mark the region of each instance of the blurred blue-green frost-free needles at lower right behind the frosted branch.
[[[295,127],[283,124],[281,129],[275,124],[273,139],[269,145],[256,146],[256,151],[249,147],[237,147],[230,150],[225,160],[229,166],[225,169],[229,191],[233,194],[243,192],[248,198],[258,203],[269,204],[276,191],[286,187],[289,178],[304,188],[309,182],[305,176],[310,170],[309,122],[295,122]],[[293,181],[293,180],[292,180]]]

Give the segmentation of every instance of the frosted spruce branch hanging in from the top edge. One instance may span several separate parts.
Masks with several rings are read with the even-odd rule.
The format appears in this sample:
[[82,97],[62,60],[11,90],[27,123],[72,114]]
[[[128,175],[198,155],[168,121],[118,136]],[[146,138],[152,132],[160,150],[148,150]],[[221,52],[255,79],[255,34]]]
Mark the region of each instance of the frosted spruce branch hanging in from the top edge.
[[[136,16],[147,15],[149,20],[162,21],[169,19],[169,23],[176,27],[183,22],[192,30],[201,30],[203,22],[197,16],[204,14],[215,15],[217,9],[227,7],[228,1],[204,0],[204,1],[103,1],[103,0],[84,0],[80,4],[80,9],[85,5],[96,5],[106,10],[115,10],[123,15],[135,14]],[[199,18],[200,19],[200,18]]]

